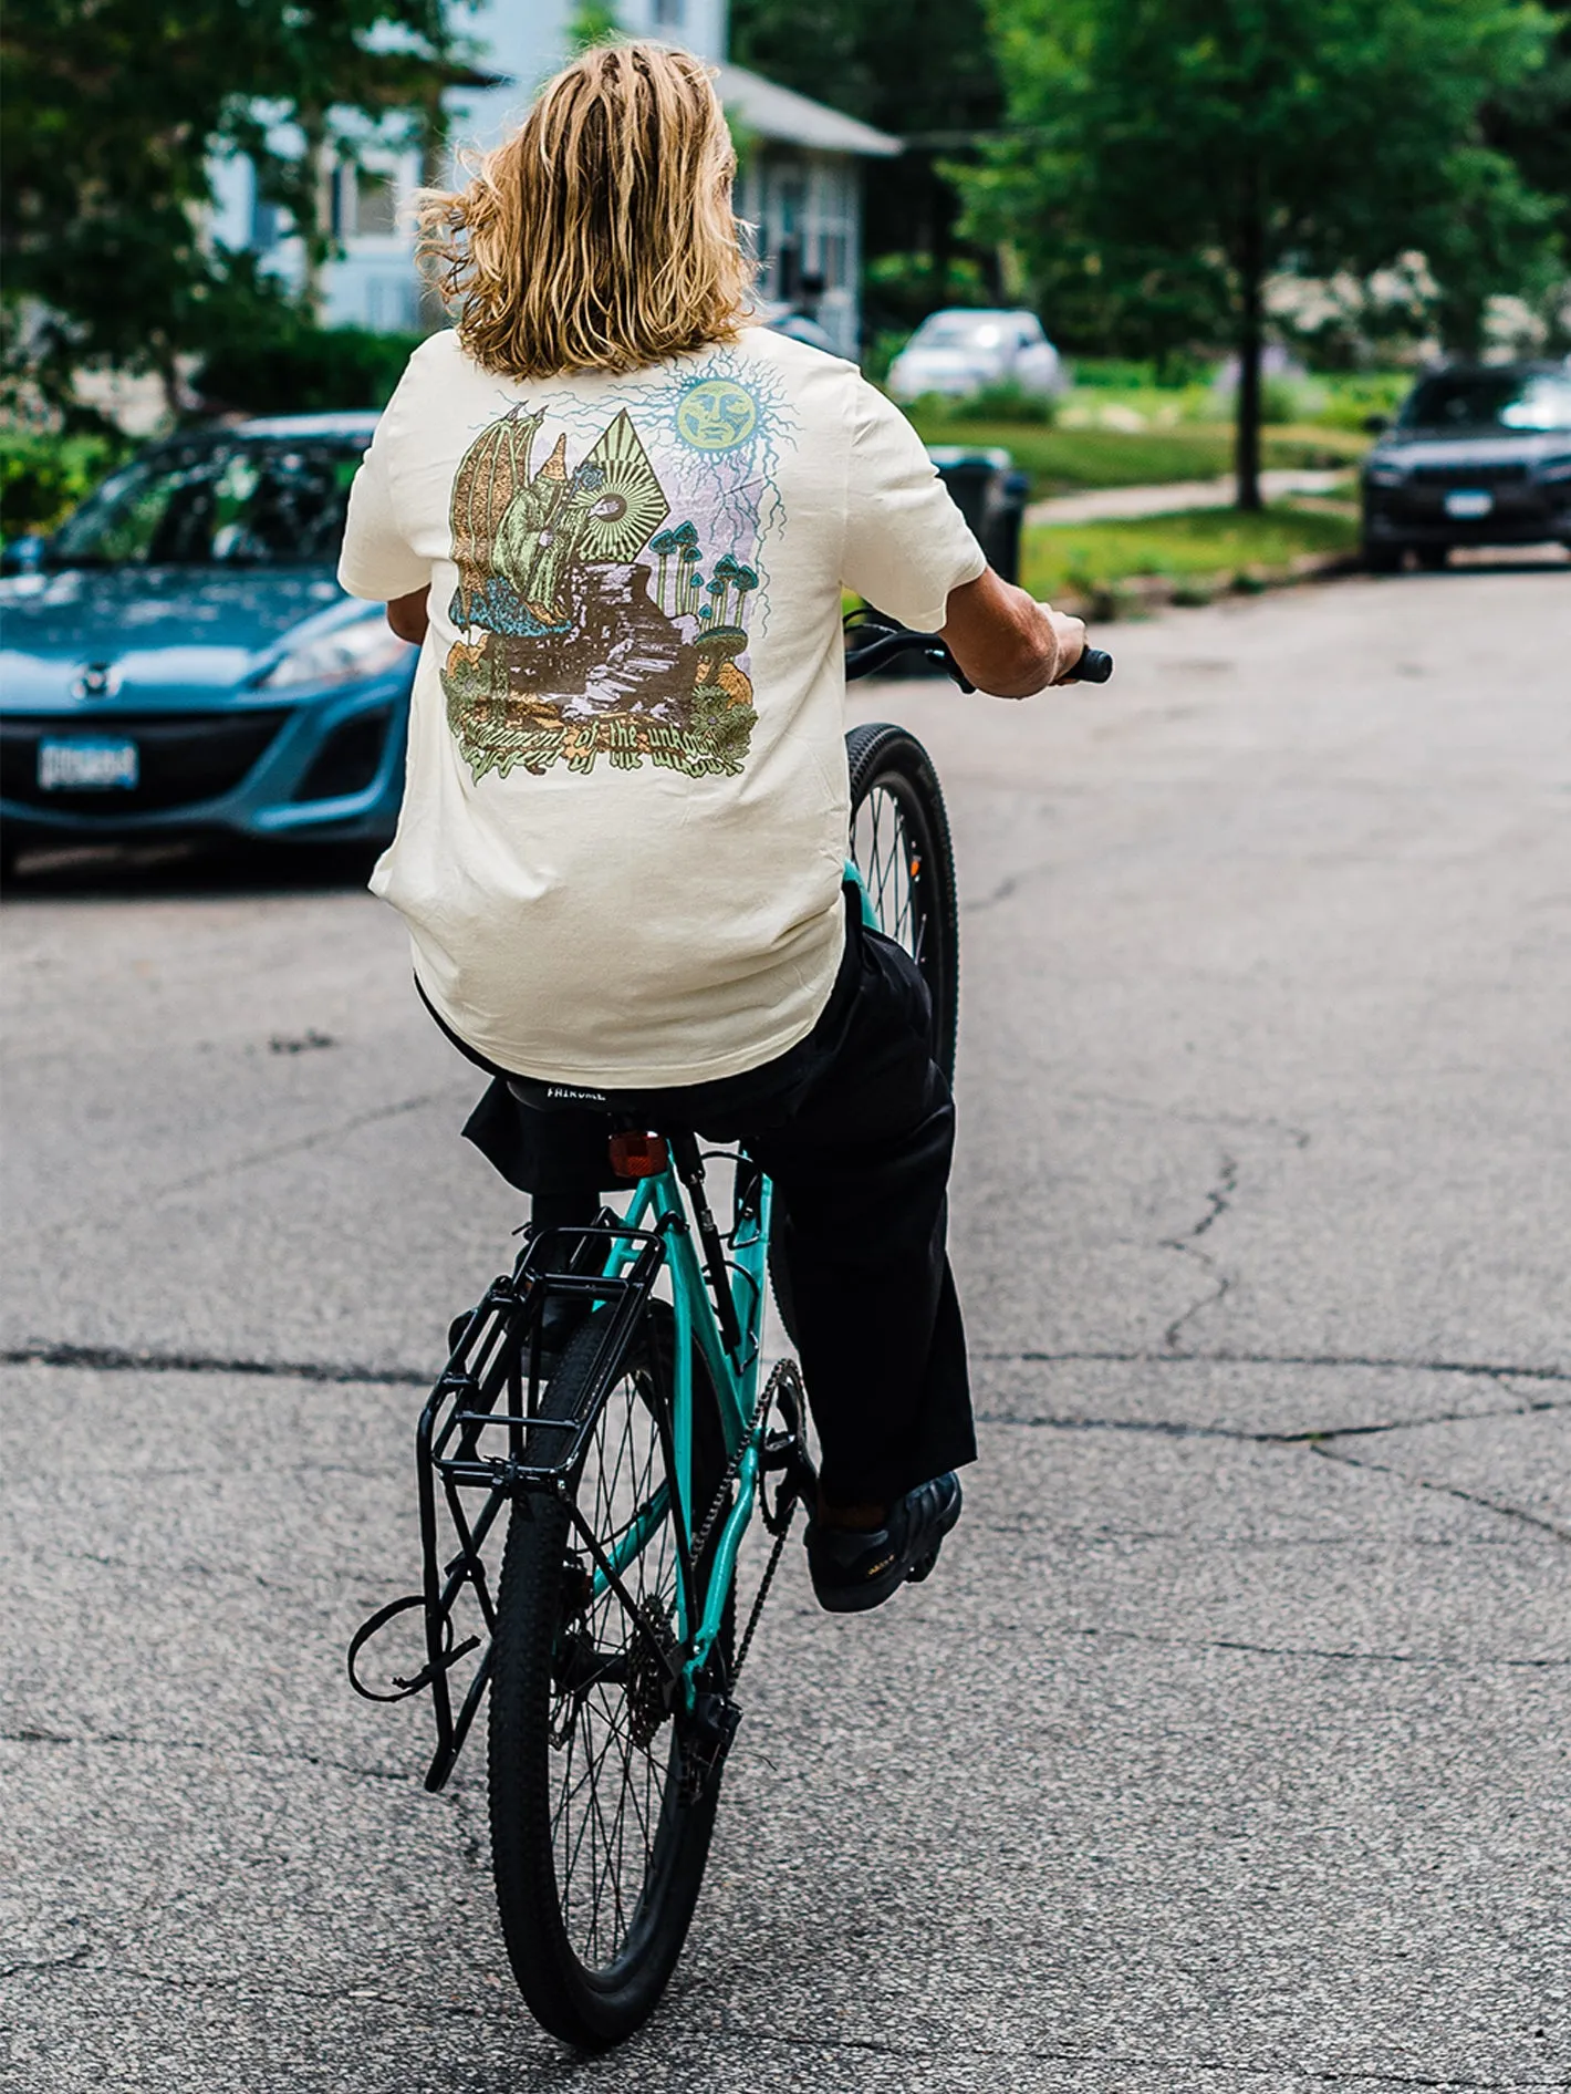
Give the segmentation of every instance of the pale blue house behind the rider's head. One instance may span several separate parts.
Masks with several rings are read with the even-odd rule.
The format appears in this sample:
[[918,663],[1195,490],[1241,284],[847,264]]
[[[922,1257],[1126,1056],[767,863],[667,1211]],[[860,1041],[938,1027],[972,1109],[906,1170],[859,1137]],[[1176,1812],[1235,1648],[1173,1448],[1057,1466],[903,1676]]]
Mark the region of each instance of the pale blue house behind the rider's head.
[[[523,115],[533,88],[571,48],[575,0],[479,0],[464,19],[485,73],[446,96],[452,144],[489,147]],[[759,291],[810,310],[841,356],[858,354],[862,266],[862,161],[900,151],[895,138],[726,63],[726,0],[621,0],[630,36],[653,36],[718,67],[718,92],[738,142],[736,209],[755,228]],[[420,283],[408,201],[423,180],[418,144],[366,138],[362,165],[326,176],[326,216],[341,255],[320,285],[331,327],[420,327]],[[299,281],[299,241],[257,201],[249,163],[218,170],[218,239],[251,247]]]

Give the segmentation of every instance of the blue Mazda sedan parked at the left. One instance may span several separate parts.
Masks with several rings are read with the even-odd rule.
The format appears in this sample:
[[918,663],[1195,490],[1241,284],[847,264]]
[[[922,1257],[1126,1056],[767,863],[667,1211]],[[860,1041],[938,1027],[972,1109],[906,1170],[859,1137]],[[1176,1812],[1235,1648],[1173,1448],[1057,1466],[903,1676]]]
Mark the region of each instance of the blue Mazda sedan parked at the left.
[[6,856],[241,833],[385,842],[416,649],[335,580],[374,415],[178,436],[0,580]]

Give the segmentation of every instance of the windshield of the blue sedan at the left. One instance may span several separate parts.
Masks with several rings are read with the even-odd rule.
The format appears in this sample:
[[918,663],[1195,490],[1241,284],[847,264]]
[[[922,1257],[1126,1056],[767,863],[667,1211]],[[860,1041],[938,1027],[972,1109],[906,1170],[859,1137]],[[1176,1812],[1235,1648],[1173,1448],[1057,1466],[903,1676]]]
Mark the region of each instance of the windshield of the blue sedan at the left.
[[50,542],[50,565],[333,565],[362,446],[165,444],[107,480]]

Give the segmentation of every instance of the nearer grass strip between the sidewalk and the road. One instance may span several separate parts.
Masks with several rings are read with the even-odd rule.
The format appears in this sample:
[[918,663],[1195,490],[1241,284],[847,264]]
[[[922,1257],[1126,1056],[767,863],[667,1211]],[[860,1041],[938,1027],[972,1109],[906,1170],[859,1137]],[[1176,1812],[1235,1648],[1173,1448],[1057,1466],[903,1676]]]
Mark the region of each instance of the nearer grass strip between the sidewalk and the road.
[[1197,597],[1238,576],[1268,578],[1305,553],[1349,553],[1358,521],[1318,509],[1182,509],[1119,524],[1031,524],[1021,544],[1021,582],[1033,597],[1117,595],[1136,576],[1167,576]]

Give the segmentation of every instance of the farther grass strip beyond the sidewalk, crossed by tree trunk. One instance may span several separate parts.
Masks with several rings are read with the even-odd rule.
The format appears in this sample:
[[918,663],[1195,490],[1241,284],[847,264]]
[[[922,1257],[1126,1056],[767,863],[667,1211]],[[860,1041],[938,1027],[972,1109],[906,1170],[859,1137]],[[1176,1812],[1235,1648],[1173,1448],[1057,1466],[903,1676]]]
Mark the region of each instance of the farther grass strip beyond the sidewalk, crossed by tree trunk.
[[[1031,475],[1031,496],[1075,494],[1082,488],[1142,488],[1174,480],[1215,480],[1232,465],[1232,431],[1217,425],[1182,429],[1048,429],[1021,421],[958,421],[912,415],[925,444],[998,444]],[[1268,429],[1263,463],[1337,467],[1362,456],[1368,438],[1343,429]]]

